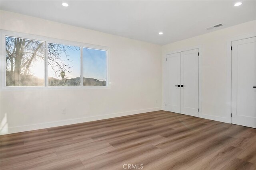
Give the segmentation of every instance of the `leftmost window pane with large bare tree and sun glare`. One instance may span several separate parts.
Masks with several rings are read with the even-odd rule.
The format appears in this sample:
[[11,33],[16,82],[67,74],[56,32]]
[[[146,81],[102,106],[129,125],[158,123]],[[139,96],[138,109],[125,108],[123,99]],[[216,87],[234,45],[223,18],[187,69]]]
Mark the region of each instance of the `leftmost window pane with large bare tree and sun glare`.
[[6,36],[6,86],[44,86],[45,42]]

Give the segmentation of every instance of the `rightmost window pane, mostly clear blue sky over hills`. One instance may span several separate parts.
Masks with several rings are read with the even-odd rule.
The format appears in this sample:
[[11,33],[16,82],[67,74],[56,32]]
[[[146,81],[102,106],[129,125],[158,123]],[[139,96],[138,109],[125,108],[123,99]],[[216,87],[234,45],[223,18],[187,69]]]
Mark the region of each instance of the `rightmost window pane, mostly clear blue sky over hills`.
[[83,85],[106,86],[107,51],[83,48]]

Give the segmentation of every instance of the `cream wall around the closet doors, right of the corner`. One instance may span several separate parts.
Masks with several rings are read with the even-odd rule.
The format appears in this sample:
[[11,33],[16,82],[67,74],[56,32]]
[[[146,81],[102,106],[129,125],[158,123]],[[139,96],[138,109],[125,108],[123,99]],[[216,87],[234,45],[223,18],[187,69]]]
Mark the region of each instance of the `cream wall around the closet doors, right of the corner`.
[[256,33],[256,20],[220,29],[211,33],[162,46],[163,90],[162,108],[165,109],[165,55],[188,47],[202,45],[202,116],[207,119],[230,122],[227,95],[228,39]]

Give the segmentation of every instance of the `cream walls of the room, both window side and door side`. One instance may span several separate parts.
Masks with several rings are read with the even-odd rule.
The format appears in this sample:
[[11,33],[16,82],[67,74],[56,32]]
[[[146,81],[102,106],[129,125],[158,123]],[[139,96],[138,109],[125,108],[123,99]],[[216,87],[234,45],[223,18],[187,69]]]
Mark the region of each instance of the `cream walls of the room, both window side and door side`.
[[[256,21],[250,21],[161,49],[159,45],[12,12],[0,14],[0,29],[110,47],[112,82],[109,89],[1,90],[2,134],[165,109],[165,54],[197,45],[202,45],[202,114],[228,122],[226,44],[232,37],[256,33]],[[61,114],[63,107],[66,115]]]

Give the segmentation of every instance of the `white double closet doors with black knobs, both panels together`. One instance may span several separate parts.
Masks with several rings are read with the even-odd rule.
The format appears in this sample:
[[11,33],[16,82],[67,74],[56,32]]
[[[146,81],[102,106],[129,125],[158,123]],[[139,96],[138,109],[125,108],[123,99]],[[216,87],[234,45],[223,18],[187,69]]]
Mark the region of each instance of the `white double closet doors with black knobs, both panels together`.
[[166,110],[198,117],[198,49],[166,55]]

